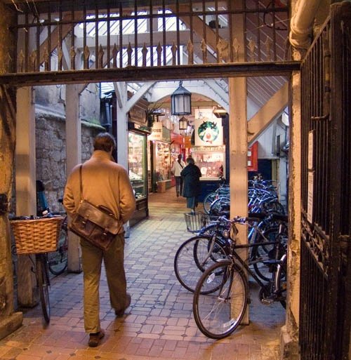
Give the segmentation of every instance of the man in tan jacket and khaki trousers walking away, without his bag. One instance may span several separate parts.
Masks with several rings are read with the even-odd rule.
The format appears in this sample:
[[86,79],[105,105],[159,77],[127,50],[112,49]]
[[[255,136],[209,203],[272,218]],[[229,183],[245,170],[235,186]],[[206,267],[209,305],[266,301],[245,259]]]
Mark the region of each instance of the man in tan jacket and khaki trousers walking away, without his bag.
[[[94,139],[94,151],[81,168],[83,194],[80,193],[80,164],[75,166],[67,179],[63,205],[73,215],[84,197],[95,206],[109,208],[114,216],[125,224],[135,209],[135,197],[128,173],[112,158],[116,147],[109,133],[100,133]],[[96,347],[104,337],[100,328],[99,283],[102,260],[105,264],[110,302],[116,316],[123,316],[131,304],[131,295],[126,292],[124,272],[124,228],[115,237],[110,247],[103,251],[85,239],[80,240],[81,262],[84,274],[84,328],[89,334],[88,345]]]

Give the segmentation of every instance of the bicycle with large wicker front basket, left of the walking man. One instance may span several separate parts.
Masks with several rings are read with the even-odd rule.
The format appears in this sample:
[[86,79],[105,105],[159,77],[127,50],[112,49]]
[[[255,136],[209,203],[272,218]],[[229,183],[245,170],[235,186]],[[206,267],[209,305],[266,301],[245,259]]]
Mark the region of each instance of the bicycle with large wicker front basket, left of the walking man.
[[32,258],[36,275],[41,309],[46,324],[50,322],[50,276],[48,275],[48,252],[55,250],[60,232],[61,216],[14,217],[10,219],[18,255],[35,255]]

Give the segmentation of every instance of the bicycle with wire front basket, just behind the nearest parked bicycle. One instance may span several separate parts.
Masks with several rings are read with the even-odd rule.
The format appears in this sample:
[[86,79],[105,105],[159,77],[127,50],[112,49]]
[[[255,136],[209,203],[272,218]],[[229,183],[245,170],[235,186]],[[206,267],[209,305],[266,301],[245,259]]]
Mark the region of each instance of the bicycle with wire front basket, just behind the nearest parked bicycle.
[[[253,244],[247,261],[261,279],[270,281],[269,266],[265,262],[272,257],[272,249],[278,241],[284,240],[286,244],[287,227],[283,224],[286,224],[287,218],[279,214],[255,213],[246,219],[251,226],[249,242]],[[227,218],[213,218],[204,213],[186,213],[185,220],[187,230],[197,235],[180,245],[173,267],[180,284],[193,293],[205,269],[230,254],[230,242],[223,233],[230,232],[231,222]],[[268,227],[267,224],[273,221],[282,225]]]

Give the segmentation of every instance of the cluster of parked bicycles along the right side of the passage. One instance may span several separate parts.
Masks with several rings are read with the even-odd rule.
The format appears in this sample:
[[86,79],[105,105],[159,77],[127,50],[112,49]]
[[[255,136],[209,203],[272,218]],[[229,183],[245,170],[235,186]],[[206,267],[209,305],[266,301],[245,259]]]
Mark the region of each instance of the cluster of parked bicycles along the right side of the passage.
[[[185,213],[187,230],[195,236],[181,244],[174,258],[178,281],[194,293],[197,326],[213,339],[225,338],[241,323],[249,303],[249,276],[260,287],[261,302],[286,306],[288,219],[272,183],[251,182],[248,217],[229,220],[229,208],[213,210],[226,192],[221,186],[211,194],[215,198],[207,211],[204,202],[204,213]],[[246,244],[239,244],[240,226],[248,227]]]

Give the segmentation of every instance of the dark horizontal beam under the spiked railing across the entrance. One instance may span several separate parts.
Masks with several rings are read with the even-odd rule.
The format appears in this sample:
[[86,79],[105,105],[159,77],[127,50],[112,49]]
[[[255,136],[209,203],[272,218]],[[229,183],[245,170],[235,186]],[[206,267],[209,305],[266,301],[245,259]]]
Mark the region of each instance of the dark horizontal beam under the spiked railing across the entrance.
[[290,76],[300,70],[300,62],[231,62],[222,64],[168,65],[164,67],[126,67],[116,69],[85,69],[60,72],[0,74],[0,84],[36,86],[55,84],[86,84],[101,81],[153,81],[205,79],[238,76]]

